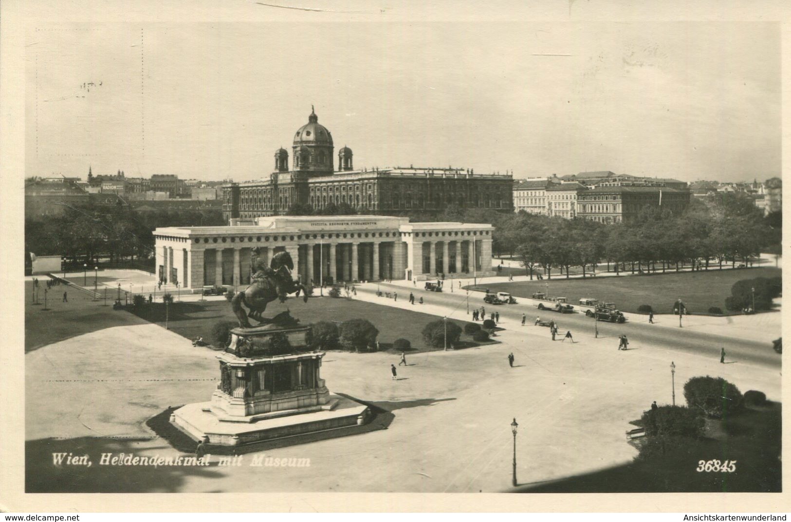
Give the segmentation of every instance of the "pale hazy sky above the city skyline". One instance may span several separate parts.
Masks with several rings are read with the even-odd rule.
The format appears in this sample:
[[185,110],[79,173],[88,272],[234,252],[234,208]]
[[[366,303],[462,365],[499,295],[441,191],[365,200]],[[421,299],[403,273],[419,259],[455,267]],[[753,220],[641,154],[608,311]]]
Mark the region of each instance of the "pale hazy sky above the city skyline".
[[187,21],[28,39],[25,176],[267,178],[312,104],[336,164],[347,145],[357,168],[781,171],[777,23]]

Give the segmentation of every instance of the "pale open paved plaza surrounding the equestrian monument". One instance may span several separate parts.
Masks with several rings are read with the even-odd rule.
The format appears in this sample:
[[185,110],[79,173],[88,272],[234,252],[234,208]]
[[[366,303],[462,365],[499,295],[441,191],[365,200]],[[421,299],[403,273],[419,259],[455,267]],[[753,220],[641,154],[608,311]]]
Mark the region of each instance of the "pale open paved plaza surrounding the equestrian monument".
[[[145,287],[146,280],[134,279],[133,284],[137,283]],[[392,286],[406,292],[396,302],[378,297],[376,284],[360,285],[355,299],[372,302],[372,306],[411,310],[419,306],[417,311],[427,314],[467,317],[466,292],[434,294],[413,288],[416,295],[425,297],[426,304],[420,306],[407,302],[407,288]],[[480,306],[481,297],[471,292],[471,306]],[[330,298],[308,304],[321,306],[321,299]],[[287,305],[273,303],[267,315]],[[486,308],[488,312],[490,307]],[[592,320],[553,317],[561,329],[564,323],[570,325],[577,341],[572,344],[553,342],[548,329],[531,325],[529,320],[536,315],[532,303],[520,301],[497,310],[503,328],[496,337],[500,344],[407,353],[409,366],[398,367],[397,381],[392,380],[389,368],[398,362],[398,355],[327,353],[322,377],[331,392],[373,403],[395,417],[387,430],[265,452],[276,458],[308,458],[309,468],[213,464],[202,470],[152,468],[120,475],[116,468],[94,465],[78,473],[71,471],[70,479],[57,481],[58,487],[149,492],[508,491],[513,418],[520,424],[520,486],[626,464],[637,453],[624,437],[634,427],[629,422],[638,419],[653,400],[659,404],[672,401],[671,361],[676,364],[679,404],[684,402],[683,383],[706,374],[724,377],[742,392],[756,389],[770,400],[781,399],[780,356],[768,340],[740,343],[744,352],[729,345],[732,363],[720,364],[718,346],[700,341],[705,337],[701,332],[717,328],[712,325],[699,324],[696,336],[686,330],[679,333],[670,325],[643,325],[630,318],[623,326],[603,325],[604,337],[596,339]],[[523,312],[528,314],[526,326],[520,325]],[[26,355],[28,487],[52,486],[52,474],[63,472],[51,465],[53,451],[88,453],[93,460],[106,452],[177,456],[175,449],[149,430],[146,420],[168,406],[204,401],[216,388],[215,352],[192,347],[189,340],[157,325],[140,324],[126,312],[117,314],[129,317],[128,324],[95,329]],[[738,317],[745,322],[734,328],[749,329],[751,322],[758,324],[770,316],[779,314]],[[310,317],[301,319],[311,321]],[[660,323],[665,319],[657,317]],[[714,319],[720,318],[700,317],[701,321]],[[607,326],[630,333],[629,351],[616,350],[617,335]],[[685,326],[693,327],[692,323]],[[780,335],[779,321],[752,330],[763,330],[767,339],[774,339]],[[717,333],[728,335],[721,329]],[[687,336],[689,343],[677,343],[679,335]],[[747,353],[762,349],[766,353]],[[516,357],[513,368],[506,360],[511,352]],[[245,455],[243,462],[254,455]],[[127,479],[119,481],[119,476]]]

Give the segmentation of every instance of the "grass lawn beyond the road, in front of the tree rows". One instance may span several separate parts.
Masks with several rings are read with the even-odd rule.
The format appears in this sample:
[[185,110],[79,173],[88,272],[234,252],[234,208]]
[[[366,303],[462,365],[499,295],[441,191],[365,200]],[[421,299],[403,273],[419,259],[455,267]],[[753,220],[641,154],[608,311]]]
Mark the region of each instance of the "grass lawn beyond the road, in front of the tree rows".
[[[755,268],[743,270],[709,270],[708,272],[679,272],[652,276],[620,276],[590,279],[570,279],[553,276],[551,280],[513,281],[486,285],[489,291],[507,291],[517,297],[530,297],[534,292],[547,292],[554,297],[566,297],[576,304],[579,299],[591,298],[615,302],[619,310],[637,313],[638,306],[651,305],[656,314],[672,314],[672,306],[681,299],[691,314],[708,314],[711,306],[719,306],[725,314],[725,298],[731,295],[736,281],[755,277],[780,277],[781,269]],[[475,287],[483,291],[483,286]]]

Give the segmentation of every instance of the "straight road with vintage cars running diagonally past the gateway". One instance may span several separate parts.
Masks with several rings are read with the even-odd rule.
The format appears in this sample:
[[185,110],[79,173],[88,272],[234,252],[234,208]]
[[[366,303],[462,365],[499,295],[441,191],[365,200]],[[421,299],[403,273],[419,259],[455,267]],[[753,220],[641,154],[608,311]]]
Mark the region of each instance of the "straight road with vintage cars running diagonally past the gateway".
[[[407,291],[404,287],[399,287],[392,284],[380,284],[382,291],[399,291],[403,295],[403,299],[407,299],[408,291],[412,291],[415,299],[421,297],[426,303],[433,305],[445,306],[451,310],[455,310],[448,317],[457,319],[465,319],[467,316],[467,294],[464,291],[455,292],[433,292],[422,290],[420,287],[412,288]],[[384,290],[387,288],[387,290]],[[373,290],[372,290],[373,289]],[[365,285],[365,287],[358,287],[360,292],[368,292],[375,294],[375,287],[373,285]],[[586,317],[584,313],[575,314],[558,314],[550,310],[538,310],[536,304],[532,299],[517,298],[519,304],[517,305],[486,305],[483,302],[483,292],[471,291],[469,294],[470,309],[475,307],[484,306],[486,314],[491,312],[498,312],[500,317],[507,318],[509,321],[520,321],[522,314],[527,314],[529,332],[535,333],[534,329],[541,329],[546,331],[549,336],[549,329],[546,327],[532,326],[536,321],[536,317],[541,317],[544,320],[554,319],[558,323],[560,332],[559,336],[565,334],[566,330],[570,330],[575,339],[581,340],[582,338],[594,336],[595,322],[591,317]],[[579,307],[575,306],[575,310]],[[664,321],[667,321],[665,318]],[[683,319],[682,319],[683,324]],[[719,357],[721,347],[725,348],[726,360],[736,362],[749,362],[751,364],[759,364],[768,366],[772,369],[779,369],[781,367],[782,357],[776,353],[770,343],[761,343],[752,340],[734,339],[728,336],[717,336],[705,332],[695,332],[692,330],[685,330],[679,328],[677,318],[673,325],[662,325],[655,323],[649,325],[647,323],[636,323],[627,321],[623,325],[617,325],[609,322],[599,321],[599,338],[606,339],[612,338],[613,346],[617,347],[618,336],[624,334],[628,337],[630,344],[652,344],[662,346],[672,351],[684,351],[687,353],[706,352],[712,356]],[[559,337],[558,337],[559,338]]]

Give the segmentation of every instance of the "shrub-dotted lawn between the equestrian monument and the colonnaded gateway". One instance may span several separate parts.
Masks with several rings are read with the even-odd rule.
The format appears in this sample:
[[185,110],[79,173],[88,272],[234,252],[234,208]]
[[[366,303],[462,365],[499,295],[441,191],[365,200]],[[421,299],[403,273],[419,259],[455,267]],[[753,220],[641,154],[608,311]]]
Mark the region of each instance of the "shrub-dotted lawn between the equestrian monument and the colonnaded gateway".
[[[136,312],[140,317],[165,326],[165,317],[162,314],[161,303],[146,304]],[[437,321],[439,317],[422,314],[411,310],[399,310],[390,306],[382,306],[355,299],[330,297],[312,298],[308,302],[302,299],[289,299],[285,304],[273,302],[267,307],[265,317],[273,317],[288,308],[293,317],[301,320],[302,324],[309,325],[318,321],[335,321],[340,323],[350,319],[363,318],[371,321],[379,330],[378,340],[382,350],[391,349],[393,341],[399,338],[410,341],[413,351],[432,351],[437,348],[427,346],[422,339],[422,329],[427,323]],[[191,301],[174,302],[168,313],[168,328],[187,339],[202,336],[210,341],[211,327],[217,321],[233,321],[237,324],[237,317],[233,315],[229,302],[226,301]],[[466,321],[454,321],[464,328]],[[255,324],[255,321],[252,321]],[[460,337],[456,347],[474,347],[481,344],[471,340],[470,336]],[[440,348],[441,349],[441,348]]]

